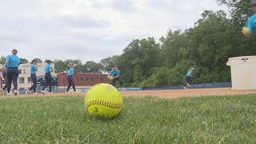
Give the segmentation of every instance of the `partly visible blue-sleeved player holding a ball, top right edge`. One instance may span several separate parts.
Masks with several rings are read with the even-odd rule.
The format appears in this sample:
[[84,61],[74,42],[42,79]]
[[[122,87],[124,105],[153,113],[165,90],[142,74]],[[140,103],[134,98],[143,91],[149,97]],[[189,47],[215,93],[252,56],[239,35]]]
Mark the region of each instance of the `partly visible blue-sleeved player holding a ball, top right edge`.
[[[250,0],[251,10],[256,13],[256,0]],[[256,28],[256,14],[252,15],[248,21],[246,22],[246,27],[243,27],[242,33],[246,37],[250,37],[250,35],[254,32]]]

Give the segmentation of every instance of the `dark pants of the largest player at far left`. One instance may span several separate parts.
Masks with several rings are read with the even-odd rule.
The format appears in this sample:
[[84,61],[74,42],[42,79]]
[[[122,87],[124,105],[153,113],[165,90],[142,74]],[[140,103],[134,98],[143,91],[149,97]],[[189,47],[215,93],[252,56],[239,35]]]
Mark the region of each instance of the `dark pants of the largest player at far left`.
[[14,90],[17,90],[17,87],[18,87],[18,74],[19,74],[19,71],[18,71],[18,68],[15,67],[10,67],[7,69],[7,91],[8,93],[10,93],[10,87],[11,87],[11,83],[13,82],[14,83]]

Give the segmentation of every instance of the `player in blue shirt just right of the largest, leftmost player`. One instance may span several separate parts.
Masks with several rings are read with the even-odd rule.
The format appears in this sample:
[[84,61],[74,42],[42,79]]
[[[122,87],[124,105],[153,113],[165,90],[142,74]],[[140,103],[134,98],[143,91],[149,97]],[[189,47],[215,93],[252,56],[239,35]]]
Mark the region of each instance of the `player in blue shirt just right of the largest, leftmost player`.
[[32,62],[31,62],[31,66],[30,66],[30,78],[31,78],[31,81],[33,82],[33,85],[30,87],[29,90],[27,90],[28,93],[32,94],[31,90],[34,90],[34,94],[38,94],[36,92],[37,90],[37,84],[38,84],[38,78],[37,78],[37,75],[36,75],[36,71],[38,71],[38,65],[37,65],[37,60],[34,59]]

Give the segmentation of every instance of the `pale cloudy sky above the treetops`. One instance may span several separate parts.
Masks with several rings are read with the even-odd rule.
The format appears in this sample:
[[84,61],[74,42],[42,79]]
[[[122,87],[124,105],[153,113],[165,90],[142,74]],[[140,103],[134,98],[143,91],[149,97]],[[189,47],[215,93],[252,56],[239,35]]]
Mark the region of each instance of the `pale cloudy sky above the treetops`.
[[194,26],[215,0],[0,0],[0,56],[82,62],[122,54],[133,39]]

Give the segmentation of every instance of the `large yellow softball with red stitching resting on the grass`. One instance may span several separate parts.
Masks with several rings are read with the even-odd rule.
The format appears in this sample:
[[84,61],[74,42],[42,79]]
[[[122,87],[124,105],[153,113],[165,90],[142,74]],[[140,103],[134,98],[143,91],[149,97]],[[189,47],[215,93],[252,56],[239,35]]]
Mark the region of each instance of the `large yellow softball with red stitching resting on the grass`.
[[87,91],[86,113],[102,118],[113,118],[122,110],[123,101],[119,91],[112,85],[101,83]]

